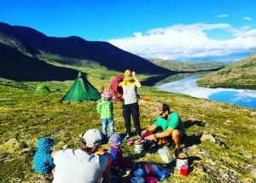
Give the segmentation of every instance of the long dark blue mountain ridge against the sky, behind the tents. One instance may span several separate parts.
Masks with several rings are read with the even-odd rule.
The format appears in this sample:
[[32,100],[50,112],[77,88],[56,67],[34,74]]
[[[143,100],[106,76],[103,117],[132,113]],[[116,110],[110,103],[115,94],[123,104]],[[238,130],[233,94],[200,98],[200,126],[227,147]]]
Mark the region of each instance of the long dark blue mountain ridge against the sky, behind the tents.
[[[9,26],[1,22],[0,43],[17,49],[22,54],[37,58],[35,61],[39,60],[38,55],[40,54],[52,54],[70,60],[95,61],[101,66],[114,71],[123,72],[126,69],[131,69],[132,71],[137,71],[137,73],[147,74],[172,75],[175,73],[175,71],[155,66],[150,61],[119,49],[110,43],[90,42],[75,36],[47,37],[44,33],[30,27]],[[5,64],[9,65],[9,62],[5,61]],[[0,65],[3,65],[3,61],[0,62]]]

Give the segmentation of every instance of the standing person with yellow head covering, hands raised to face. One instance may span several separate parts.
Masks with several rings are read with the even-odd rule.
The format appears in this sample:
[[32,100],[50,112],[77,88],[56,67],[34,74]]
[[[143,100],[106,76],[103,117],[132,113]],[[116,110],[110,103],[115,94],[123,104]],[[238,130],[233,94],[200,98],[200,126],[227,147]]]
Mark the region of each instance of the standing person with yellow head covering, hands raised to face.
[[140,138],[142,132],[140,126],[140,113],[137,99],[137,88],[142,84],[137,80],[135,71],[126,70],[123,82],[119,83],[123,88],[123,117],[125,119],[126,136],[123,141],[131,136],[131,116],[136,129],[137,138]]

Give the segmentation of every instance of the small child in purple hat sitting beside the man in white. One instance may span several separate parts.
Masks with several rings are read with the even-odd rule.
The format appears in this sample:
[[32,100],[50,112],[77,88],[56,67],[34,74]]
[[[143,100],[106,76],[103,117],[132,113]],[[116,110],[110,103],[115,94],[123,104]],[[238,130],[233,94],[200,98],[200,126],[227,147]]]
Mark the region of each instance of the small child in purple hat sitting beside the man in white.
[[113,156],[113,161],[109,164],[113,174],[118,173],[120,169],[132,168],[132,163],[126,161],[123,157],[122,149],[120,148],[122,139],[119,134],[113,134],[111,137],[110,153]]

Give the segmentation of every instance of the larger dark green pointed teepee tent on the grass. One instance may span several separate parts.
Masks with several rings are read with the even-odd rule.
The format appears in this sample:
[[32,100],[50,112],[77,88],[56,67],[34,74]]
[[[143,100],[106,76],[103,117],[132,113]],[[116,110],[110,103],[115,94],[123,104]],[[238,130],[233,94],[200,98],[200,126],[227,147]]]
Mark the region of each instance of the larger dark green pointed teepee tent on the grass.
[[101,94],[79,71],[79,75],[61,101],[99,100]]

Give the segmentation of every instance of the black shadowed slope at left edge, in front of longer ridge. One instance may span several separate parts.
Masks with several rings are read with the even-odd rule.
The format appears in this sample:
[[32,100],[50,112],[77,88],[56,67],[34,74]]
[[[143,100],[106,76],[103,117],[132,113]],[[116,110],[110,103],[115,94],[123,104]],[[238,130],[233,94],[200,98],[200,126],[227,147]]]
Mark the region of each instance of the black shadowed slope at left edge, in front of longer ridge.
[[0,43],[0,77],[16,81],[65,81],[77,74],[78,71],[44,63]]

